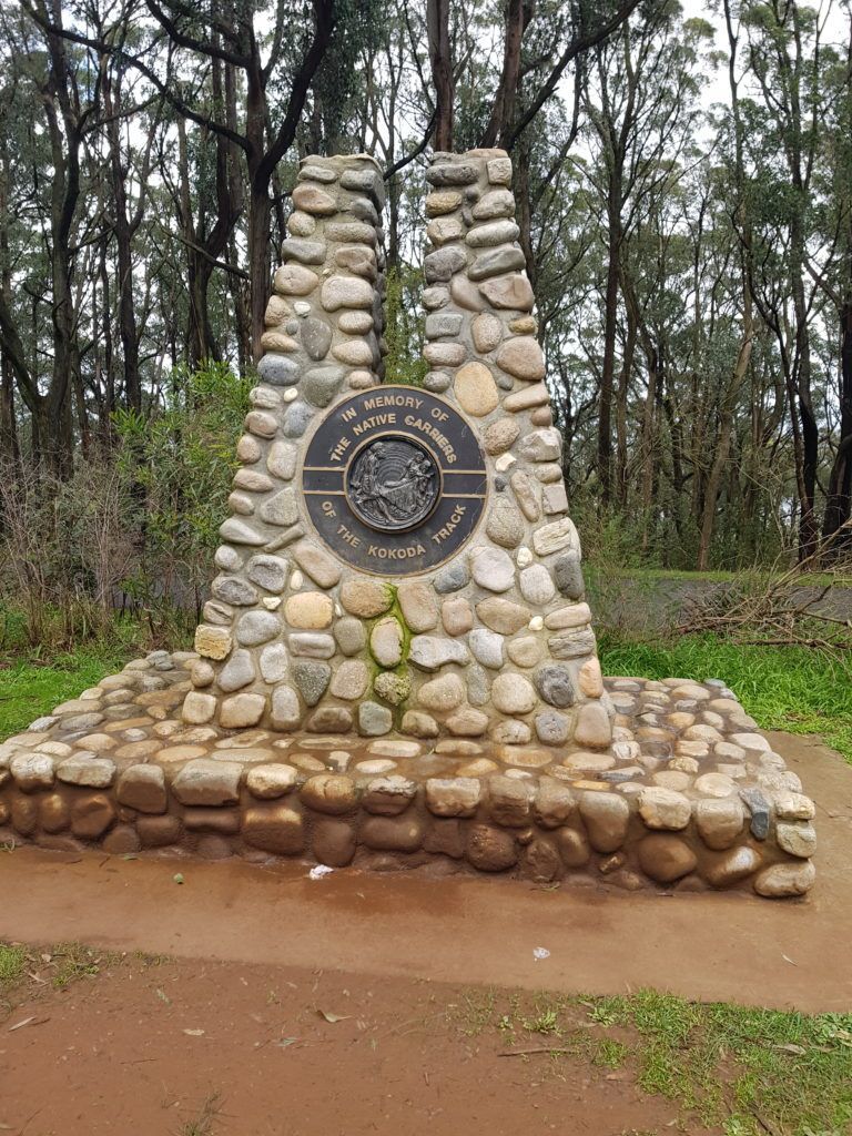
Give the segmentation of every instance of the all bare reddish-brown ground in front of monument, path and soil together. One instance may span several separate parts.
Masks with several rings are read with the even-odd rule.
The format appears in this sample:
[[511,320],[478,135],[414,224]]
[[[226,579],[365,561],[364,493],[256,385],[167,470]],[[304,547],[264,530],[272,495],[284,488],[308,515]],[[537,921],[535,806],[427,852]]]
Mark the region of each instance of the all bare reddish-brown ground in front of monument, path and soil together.
[[[629,1064],[502,1055],[517,1043],[479,1031],[477,1000],[657,987],[847,1012],[852,768],[817,742],[772,743],[819,807],[818,883],[800,902],[0,854],[0,938],[119,952],[64,991],[42,960],[0,1005],[0,1133],[671,1130],[677,1105],[642,1094]],[[134,951],[165,958],[120,959]]]

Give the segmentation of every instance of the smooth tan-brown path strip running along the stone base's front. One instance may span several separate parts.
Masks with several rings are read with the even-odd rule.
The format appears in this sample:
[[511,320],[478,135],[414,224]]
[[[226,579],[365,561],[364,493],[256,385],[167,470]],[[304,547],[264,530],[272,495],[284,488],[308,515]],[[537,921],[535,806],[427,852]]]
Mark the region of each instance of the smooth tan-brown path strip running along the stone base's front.
[[[812,897],[550,892],[517,880],[368,876],[301,864],[0,855],[0,937],[191,959],[562,992],[650,986],[704,1001],[847,1011],[852,768],[772,735],[819,805]],[[185,883],[174,883],[181,870]],[[536,962],[543,946],[550,958]]]

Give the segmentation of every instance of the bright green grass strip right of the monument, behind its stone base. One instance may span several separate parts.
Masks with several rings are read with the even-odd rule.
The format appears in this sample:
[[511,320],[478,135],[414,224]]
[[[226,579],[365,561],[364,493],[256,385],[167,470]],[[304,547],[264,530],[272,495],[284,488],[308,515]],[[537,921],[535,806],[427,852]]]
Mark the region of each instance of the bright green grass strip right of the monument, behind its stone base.
[[604,675],[721,678],[762,729],[820,734],[852,762],[852,663],[809,648],[736,646],[712,635],[635,643],[603,635]]

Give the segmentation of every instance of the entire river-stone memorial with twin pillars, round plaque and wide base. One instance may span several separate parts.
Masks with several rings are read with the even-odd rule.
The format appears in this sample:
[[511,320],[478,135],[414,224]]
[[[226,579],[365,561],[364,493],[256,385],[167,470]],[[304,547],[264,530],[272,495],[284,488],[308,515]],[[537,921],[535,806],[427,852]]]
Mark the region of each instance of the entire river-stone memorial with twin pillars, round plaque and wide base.
[[801,895],[813,804],[722,683],[604,680],[501,150],[427,173],[423,387],[383,182],[307,158],[194,652],[0,746],[0,841]]

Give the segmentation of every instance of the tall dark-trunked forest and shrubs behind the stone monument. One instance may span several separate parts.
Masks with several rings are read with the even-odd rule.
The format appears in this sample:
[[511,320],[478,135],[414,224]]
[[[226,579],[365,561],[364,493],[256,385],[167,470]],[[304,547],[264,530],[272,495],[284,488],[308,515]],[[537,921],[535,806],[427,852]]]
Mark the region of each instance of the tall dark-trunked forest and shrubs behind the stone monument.
[[31,642],[194,618],[310,152],[386,169],[416,383],[428,149],[510,151],[600,567],[852,556],[849,0],[0,0],[0,591]]

